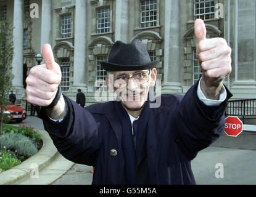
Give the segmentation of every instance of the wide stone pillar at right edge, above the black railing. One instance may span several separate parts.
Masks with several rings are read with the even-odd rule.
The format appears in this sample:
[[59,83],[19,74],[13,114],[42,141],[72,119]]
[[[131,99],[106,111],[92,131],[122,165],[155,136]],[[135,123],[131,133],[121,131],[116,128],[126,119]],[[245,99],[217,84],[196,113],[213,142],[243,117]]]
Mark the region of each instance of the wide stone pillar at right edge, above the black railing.
[[[231,86],[232,98],[256,97],[255,47],[256,47],[256,3],[232,1],[233,29],[231,32],[232,66],[234,76]],[[250,15],[251,17],[247,17]]]

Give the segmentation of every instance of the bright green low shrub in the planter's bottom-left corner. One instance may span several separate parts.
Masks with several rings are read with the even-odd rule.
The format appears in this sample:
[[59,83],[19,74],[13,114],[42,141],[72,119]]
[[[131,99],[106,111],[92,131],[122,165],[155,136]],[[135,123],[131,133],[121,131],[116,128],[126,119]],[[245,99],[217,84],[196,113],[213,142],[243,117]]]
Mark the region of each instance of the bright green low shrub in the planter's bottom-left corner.
[[0,172],[11,169],[12,167],[19,165],[20,163],[22,162],[17,159],[15,153],[11,151],[0,152]]

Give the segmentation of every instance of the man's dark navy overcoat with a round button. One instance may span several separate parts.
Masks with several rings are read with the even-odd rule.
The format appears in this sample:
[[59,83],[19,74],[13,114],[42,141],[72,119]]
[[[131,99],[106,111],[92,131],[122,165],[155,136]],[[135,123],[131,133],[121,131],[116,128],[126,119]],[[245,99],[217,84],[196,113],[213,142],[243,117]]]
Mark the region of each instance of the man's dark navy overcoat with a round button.
[[[147,160],[152,184],[195,184],[191,160],[222,134],[227,99],[218,107],[200,102],[192,86],[186,95],[162,94],[159,108],[145,107]],[[39,115],[59,152],[75,163],[94,166],[93,184],[125,183],[122,123],[116,101],[81,108],[69,98],[68,115],[53,123]],[[140,116],[141,117],[141,116]],[[128,118],[128,115],[126,116]],[[141,128],[143,129],[143,128]],[[117,150],[111,156],[110,150]]]

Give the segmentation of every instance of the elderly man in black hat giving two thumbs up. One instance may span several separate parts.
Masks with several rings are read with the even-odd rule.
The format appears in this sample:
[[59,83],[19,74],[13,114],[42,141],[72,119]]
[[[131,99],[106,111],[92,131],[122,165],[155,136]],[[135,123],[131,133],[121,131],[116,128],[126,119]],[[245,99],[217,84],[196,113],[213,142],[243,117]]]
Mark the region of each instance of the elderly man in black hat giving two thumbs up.
[[[152,108],[157,61],[141,41],[117,41],[106,82],[119,101],[81,108],[61,94],[60,67],[51,47],[43,46],[45,65],[27,78],[28,102],[43,106],[39,117],[59,152],[75,163],[94,166],[93,184],[195,184],[191,160],[223,132],[230,92],[222,82],[231,72],[231,49],[222,38],[205,39],[195,22],[202,78],[186,95],[161,95]],[[168,66],[168,65],[166,65]]]

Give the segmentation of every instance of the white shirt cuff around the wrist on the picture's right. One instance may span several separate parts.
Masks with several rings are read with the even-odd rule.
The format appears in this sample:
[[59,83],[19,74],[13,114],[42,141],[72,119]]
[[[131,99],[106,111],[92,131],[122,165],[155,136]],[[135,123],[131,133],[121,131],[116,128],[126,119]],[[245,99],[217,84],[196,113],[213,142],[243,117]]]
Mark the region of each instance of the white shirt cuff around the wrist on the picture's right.
[[208,106],[218,106],[218,105],[220,105],[220,103],[222,103],[223,101],[226,100],[226,95],[227,94],[226,94],[225,86],[223,84],[222,84],[222,89],[223,90],[221,90],[219,100],[212,100],[212,99],[206,98],[205,95],[203,94],[201,88],[200,88],[201,80],[202,80],[202,78],[200,79],[199,84],[197,86],[197,96],[198,96],[200,101],[202,101],[205,105],[208,105]]

